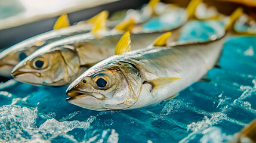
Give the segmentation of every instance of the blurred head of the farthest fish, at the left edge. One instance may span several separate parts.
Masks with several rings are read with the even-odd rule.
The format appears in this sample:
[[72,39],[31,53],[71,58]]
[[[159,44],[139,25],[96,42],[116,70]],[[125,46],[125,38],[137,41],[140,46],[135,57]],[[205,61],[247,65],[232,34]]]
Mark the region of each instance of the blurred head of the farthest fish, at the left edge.
[[30,46],[24,48],[11,47],[0,53],[0,76],[11,77],[11,70],[24,60],[32,52],[36,51],[39,46]]

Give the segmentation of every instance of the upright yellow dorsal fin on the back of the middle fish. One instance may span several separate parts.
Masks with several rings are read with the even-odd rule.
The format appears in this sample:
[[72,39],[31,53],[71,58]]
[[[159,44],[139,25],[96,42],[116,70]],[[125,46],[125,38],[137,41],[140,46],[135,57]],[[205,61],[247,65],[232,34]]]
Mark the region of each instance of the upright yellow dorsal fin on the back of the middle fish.
[[95,19],[94,26],[91,29],[91,33],[97,33],[100,30],[106,30],[107,17],[104,14],[100,14]]

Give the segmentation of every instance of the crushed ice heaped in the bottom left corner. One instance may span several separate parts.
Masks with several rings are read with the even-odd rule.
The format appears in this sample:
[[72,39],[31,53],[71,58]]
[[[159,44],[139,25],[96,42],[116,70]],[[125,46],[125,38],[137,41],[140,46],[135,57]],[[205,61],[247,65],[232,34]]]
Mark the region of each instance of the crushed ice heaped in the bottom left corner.
[[[58,122],[55,119],[47,119],[39,127],[36,126],[38,110],[19,105],[4,105],[0,107],[0,142],[51,142],[54,139],[65,138],[70,142],[77,141],[68,132],[75,129],[89,130],[95,116],[85,121],[64,121]],[[106,136],[110,134],[109,136]],[[102,138],[90,138],[97,142],[118,142],[118,133],[115,129],[103,130]],[[96,136],[96,137],[97,137]],[[90,139],[88,142],[90,142]],[[96,140],[97,139],[97,140]]]

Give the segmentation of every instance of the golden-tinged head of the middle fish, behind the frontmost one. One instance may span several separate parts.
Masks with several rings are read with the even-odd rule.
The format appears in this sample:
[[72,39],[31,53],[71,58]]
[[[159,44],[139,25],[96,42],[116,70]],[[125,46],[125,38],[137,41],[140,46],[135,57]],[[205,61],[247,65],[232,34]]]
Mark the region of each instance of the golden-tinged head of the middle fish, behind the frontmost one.
[[58,46],[47,52],[41,51],[36,51],[14,67],[14,79],[44,86],[63,86],[75,79],[80,64],[72,45]]

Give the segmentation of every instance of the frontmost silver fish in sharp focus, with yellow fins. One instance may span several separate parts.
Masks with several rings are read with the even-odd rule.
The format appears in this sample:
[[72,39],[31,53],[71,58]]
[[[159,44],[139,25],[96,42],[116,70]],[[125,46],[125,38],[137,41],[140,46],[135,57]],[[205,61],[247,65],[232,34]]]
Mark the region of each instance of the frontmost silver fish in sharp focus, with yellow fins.
[[[229,30],[241,14],[242,8],[235,10],[223,30]],[[131,110],[169,100],[216,65],[225,38],[171,46],[166,46],[166,39],[156,39],[152,47],[106,58],[69,85],[66,100],[97,111]],[[130,46],[128,38],[121,41],[127,44],[116,48]]]

